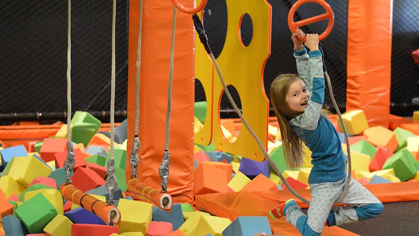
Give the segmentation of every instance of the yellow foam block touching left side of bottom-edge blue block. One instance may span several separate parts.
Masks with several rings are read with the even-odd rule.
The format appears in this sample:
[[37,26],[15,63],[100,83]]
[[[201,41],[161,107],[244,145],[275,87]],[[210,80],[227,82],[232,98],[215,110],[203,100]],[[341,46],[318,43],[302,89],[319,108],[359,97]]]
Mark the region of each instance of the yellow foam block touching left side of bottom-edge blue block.
[[212,215],[201,215],[196,226],[195,235],[223,236],[223,230],[232,223],[229,218]]

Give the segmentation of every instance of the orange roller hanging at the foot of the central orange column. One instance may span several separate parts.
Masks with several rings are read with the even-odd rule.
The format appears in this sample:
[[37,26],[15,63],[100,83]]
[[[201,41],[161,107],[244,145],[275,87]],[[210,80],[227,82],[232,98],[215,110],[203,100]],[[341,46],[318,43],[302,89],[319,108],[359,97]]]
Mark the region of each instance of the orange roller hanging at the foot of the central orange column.
[[142,200],[153,203],[160,210],[171,212],[171,209],[172,209],[171,201],[170,201],[170,205],[168,209],[162,208],[160,204],[160,201],[163,198],[163,195],[167,193],[160,193],[160,191],[157,189],[153,189],[149,186],[147,187],[144,184],[142,184],[140,180],[138,179],[131,179],[130,181],[128,181],[127,190],[131,192],[132,194],[134,194],[135,197],[138,197]]

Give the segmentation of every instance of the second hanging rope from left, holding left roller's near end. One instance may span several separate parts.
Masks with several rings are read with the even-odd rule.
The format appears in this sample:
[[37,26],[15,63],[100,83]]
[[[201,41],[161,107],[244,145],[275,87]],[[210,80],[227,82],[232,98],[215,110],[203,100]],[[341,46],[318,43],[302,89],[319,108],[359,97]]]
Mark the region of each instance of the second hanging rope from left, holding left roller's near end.
[[109,192],[109,205],[114,205],[114,192],[118,185],[115,176],[115,156],[114,156],[114,123],[115,123],[115,28],[116,28],[116,0],[113,1],[112,12],[112,73],[111,73],[111,148],[109,150],[108,176],[106,177],[106,189]]

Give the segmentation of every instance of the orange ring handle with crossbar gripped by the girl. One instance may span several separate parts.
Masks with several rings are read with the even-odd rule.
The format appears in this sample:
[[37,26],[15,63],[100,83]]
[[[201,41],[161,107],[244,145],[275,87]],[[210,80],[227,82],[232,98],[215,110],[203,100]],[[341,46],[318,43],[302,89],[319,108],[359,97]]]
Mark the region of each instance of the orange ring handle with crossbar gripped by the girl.
[[[321,6],[323,6],[323,8],[326,9],[326,13],[322,14],[322,15],[318,15],[318,16],[314,16],[314,17],[310,17],[307,18],[305,20],[299,21],[299,22],[294,22],[294,14],[297,11],[297,9],[303,5],[304,3],[307,2],[314,2],[314,3],[318,3]],[[330,32],[332,31],[333,28],[333,24],[335,21],[335,16],[333,14],[332,8],[329,6],[329,4],[324,1],[324,0],[298,0],[296,3],[294,3],[294,5],[291,7],[289,13],[288,13],[288,27],[291,30],[292,33],[295,33],[297,31],[296,28],[307,25],[307,24],[313,24],[319,21],[323,21],[329,19],[329,24],[327,24],[327,28],[325,30],[325,32],[323,32],[322,34],[319,35],[319,41],[324,40],[327,35],[330,34]],[[305,42],[305,37],[303,37],[302,39],[300,39],[301,41]]]

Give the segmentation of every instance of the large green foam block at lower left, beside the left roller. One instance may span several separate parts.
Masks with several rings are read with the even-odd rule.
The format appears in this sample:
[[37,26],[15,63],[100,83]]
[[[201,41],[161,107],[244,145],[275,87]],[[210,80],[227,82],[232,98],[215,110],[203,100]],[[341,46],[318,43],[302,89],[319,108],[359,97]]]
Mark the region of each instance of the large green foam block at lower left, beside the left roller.
[[17,218],[23,222],[29,234],[44,233],[45,226],[57,214],[55,207],[42,193],[31,197],[16,210]]

